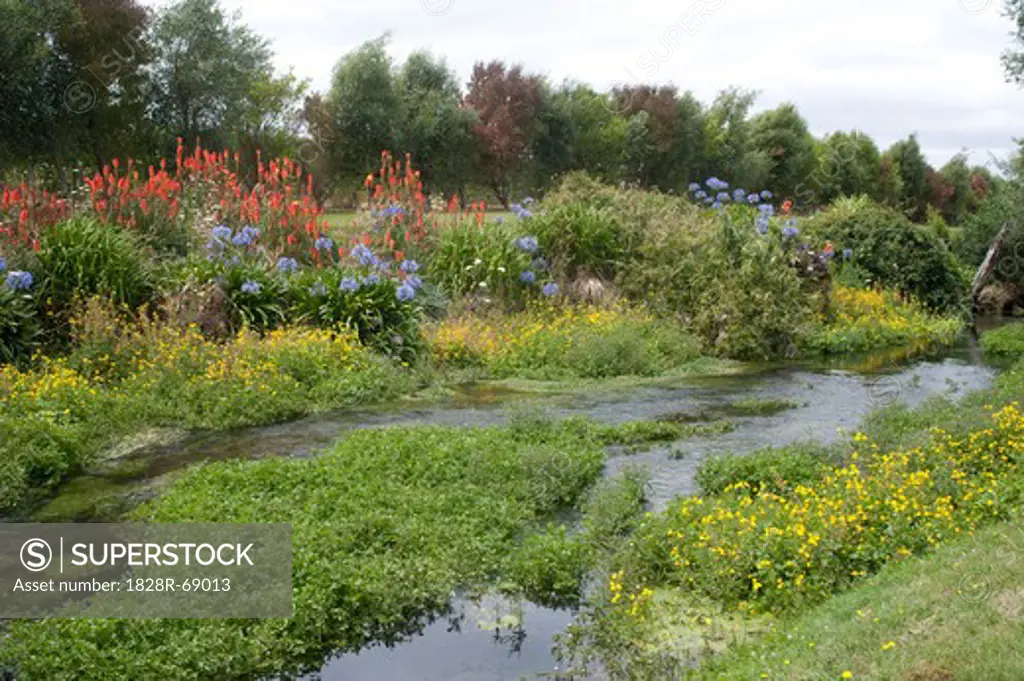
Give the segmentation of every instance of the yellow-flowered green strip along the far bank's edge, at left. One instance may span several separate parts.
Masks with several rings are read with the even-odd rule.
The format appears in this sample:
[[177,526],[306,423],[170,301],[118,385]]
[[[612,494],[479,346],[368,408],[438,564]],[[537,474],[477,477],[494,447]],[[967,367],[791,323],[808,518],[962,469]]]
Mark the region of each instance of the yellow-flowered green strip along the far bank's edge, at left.
[[108,331],[35,369],[0,368],[0,512],[146,428],[266,424],[409,385],[348,331],[244,332],[227,342],[143,323]]

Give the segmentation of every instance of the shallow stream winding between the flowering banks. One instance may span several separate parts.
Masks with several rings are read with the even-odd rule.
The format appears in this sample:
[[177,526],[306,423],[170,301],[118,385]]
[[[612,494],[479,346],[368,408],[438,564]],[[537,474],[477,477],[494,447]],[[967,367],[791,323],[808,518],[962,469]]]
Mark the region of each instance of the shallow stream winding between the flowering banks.
[[[501,424],[524,408],[553,418],[585,416],[620,423],[729,418],[723,434],[659,445],[639,454],[609,451],[606,474],[625,466],[650,472],[650,510],[696,492],[694,473],[709,456],[744,454],[768,445],[813,439],[833,441],[855,429],[872,409],[897,400],[916,405],[937,394],[958,396],[987,386],[996,374],[973,340],[938,353],[908,358],[878,353],[834,363],[765,365],[738,374],[679,378],[583,393],[517,392],[478,385],[429,405],[325,414],[291,423],[227,432],[190,433],[136,449],[65,484],[43,507],[40,520],[114,520],[159,493],[168,475],[199,461],[269,456],[308,457],[347,430],[389,425]],[[765,416],[728,416],[737,400],[785,400],[792,409]],[[572,621],[568,611],[529,603],[457,598],[454,611],[400,645],[372,647],[330,659],[324,681],[514,681],[554,674],[552,637]]]

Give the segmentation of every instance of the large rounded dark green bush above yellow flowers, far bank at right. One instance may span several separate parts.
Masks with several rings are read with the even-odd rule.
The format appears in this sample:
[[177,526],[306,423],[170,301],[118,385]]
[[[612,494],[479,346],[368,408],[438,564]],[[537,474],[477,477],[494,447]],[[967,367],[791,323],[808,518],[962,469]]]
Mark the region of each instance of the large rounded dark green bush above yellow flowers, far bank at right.
[[926,226],[865,197],[841,199],[808,218],[805,229],[851,249],[853,262],[872,284],[891,288],[933,309],[954,310],[967,293],[964,273],[948,246]]

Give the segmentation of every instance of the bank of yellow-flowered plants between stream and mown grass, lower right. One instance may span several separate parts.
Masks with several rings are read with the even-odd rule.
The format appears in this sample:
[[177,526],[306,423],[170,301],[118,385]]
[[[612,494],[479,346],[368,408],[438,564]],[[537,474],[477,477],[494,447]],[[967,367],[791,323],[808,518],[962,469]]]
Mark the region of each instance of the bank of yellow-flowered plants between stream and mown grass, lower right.
[[[882,410],[863,432],[834,448],[711,460],[697,476],[703,495],[646,519],[609,561],[605,588],[563,642],[567,661],[629,670],[629,678],[684,675],[694,656],[756,639],[774,618],[792,623],[811,611],[842,611],[833,604],[836,594],[856,592],[892,565],[1016,517],[1024,498],[1022,395],[1024,363],[1018,363],[991,389],[959,402],[934,398],[914,410]],[[893,588],[911,588],[892,579]],[[889,603],[873,607],[901,611],[899,601]],[[959,605],[935,616],[961,616]],[[771,657],[772,678],[852,674],[851,658],[870,661],[880,652],[858,648],[863,640],[843,643],[843,657],[828,649],[807,653],[825,655],[827,674],[836,676],[788,676],[782,661]],[[734,669],[730,659],[710,658],[699,678],[760,678],[764,671],[752,674],[754,663]],[[879,674],[867,678],[894,678]]]

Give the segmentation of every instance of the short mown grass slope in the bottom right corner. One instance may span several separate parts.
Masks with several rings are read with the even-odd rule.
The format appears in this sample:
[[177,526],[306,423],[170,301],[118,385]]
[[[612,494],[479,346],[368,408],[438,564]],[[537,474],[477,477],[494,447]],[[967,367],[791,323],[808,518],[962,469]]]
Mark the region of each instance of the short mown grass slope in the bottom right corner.
[[891,565],[688,678],[1020,681],[1024,519]]

